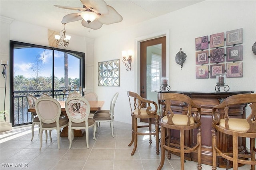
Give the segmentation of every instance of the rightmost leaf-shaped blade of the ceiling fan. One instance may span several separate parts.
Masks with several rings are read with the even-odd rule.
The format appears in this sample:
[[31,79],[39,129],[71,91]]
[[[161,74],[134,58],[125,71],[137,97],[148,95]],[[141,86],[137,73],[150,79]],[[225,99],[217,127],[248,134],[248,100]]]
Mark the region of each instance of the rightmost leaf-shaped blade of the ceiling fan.
[[123,17],[112,6],[108,6],[108,11],[108,14],[102,14],[98,17],[99,22],[102,24],[114,24],[123,20]]

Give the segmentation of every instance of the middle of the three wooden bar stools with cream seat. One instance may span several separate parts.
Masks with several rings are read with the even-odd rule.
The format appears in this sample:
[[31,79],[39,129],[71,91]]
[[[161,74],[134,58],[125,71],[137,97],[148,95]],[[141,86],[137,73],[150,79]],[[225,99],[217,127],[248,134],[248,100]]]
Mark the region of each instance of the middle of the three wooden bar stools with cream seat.
[[[187,95],[179,93],[158,93],[157,98],[160,114],[163,116],[160,121],[161,162],[158,170],[162,169],[164,165],[165,150],[168,151],[168,159],[171,158],[170,151],[180,154],[181,170],[184,170],[184,154],[197,153],[197,168],[201,170],[201,106],[196,105]],[[182,112],[178,113],[175,109],[177,107],[182,107]],[[187,141],[185,145],[185,135],[193,133],[195,129],[197,133],[196,143],[190,139],[191,141]],[[172,130],[180,130],[180,144],[171,138]],[[191,167],[186,169],[191,169]]]

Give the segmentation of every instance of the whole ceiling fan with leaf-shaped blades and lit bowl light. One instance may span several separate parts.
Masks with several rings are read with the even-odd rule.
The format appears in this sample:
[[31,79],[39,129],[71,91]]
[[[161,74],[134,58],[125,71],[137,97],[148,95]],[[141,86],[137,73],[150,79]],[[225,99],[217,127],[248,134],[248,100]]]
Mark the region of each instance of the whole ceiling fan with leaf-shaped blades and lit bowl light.
[[63,17],[62,24],[82,20],[82,26],[98,30],[103,24],[114,24],[123,20],[112,6],[108,6],[104,0],[80,0],[83,8],[54,5],[58,8],[79,10],[78,13],[68,14]]

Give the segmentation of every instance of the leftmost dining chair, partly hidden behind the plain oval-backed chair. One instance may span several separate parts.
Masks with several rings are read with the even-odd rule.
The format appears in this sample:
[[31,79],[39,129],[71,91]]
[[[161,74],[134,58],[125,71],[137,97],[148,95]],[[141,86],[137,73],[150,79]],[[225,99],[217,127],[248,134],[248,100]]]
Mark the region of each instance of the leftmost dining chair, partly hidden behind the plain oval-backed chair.
[[[37,98],[33,95],[28,94],[26,96],[27,98],[27,102],[28,102],[28,107],[30,109],[35,109],[35,105],[36,105],[36,100]],[[34,138],[34,126],[35,124],[39,125],[40,121],[38,116],[36,115],[36,112],[30,112],[31,113],[31,117],[32,117],[32,127],[31,127],[31,131],[32,131],[32,137],[31,137],[31,141]],[[40,131],[40,126],[38,126],[38,132]],[[38,133],[39,135],[39,133]],[[50,140],[52,141],[52,131],[49,131],[49,136],[50,136]],[[47,130],[45,130],[45,141],[47,141],[48,135],[47,135]]]

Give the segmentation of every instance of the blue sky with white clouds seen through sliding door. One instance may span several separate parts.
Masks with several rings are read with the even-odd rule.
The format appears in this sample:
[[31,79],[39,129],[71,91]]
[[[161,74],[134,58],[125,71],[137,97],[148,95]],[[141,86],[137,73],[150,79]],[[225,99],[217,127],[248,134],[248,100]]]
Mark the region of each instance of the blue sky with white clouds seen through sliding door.
[[[43,60],[43,69],[40,76],[50,77],[52,75],[52,50],[42,48],[20,48],[14,50],[14,76],[24,75],[24,77],[35,77],[31,70],[31,65],[36,60],[36,56]],[[64,77],[64,53],[55,51],[54,75],[58,78]],[[79,59],[68,54],[68,77],[79,78]]]

